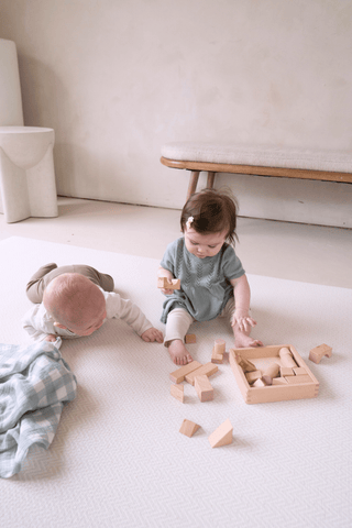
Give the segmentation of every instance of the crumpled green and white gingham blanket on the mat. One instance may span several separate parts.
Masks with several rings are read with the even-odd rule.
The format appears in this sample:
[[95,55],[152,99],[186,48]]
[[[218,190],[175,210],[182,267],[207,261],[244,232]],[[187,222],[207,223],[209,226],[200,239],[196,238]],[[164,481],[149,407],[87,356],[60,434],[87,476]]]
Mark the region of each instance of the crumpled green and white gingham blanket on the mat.
[[52,443],[77,381],[55,344],[0,344],[0,476],[21,471],[29,449]]

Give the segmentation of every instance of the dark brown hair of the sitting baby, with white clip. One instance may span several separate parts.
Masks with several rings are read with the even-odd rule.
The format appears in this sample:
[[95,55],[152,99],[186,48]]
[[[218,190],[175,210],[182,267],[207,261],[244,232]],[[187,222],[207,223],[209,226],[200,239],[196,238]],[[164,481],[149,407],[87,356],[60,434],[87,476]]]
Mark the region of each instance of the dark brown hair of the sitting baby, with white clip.
[[227,231],[227,242],[234,245],[238,202],[229,191],[205,189],[191,195],[185,204],[180,216],[183,233],[189,217],[194,220],[190,224],[197,233],[220,233]]

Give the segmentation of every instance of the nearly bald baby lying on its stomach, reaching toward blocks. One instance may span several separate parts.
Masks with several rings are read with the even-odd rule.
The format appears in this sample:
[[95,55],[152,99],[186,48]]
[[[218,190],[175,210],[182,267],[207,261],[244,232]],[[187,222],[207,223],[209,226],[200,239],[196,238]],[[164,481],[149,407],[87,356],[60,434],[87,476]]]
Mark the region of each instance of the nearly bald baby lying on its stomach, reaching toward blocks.
[[146,342],[163,342],[141,309],[113,292],[113,279],[86,265],[41,267],[26,286],[34,306],[22,319],[23,328],[38,341],[90,336],[106,319],[127,322]]

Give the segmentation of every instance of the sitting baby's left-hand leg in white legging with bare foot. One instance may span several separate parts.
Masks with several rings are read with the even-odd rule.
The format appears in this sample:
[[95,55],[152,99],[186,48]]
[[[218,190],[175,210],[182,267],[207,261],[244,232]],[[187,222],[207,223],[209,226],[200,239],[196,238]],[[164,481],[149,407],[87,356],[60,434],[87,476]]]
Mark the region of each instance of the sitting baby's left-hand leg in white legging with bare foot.
[[164,344],[176,365],[186,365],[193,361],[185,346],[185,336],[193,321],[193,317],[183,308],[175,308],[167,316]]

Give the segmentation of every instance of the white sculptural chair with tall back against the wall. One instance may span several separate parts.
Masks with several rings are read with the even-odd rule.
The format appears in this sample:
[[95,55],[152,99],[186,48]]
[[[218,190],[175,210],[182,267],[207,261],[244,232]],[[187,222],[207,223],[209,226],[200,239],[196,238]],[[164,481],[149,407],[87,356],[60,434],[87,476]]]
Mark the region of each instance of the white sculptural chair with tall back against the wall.
[[0,38],[0,212],[57,217],[53,129],[24,127],[15,43]]

